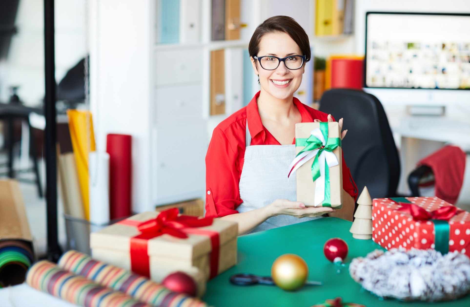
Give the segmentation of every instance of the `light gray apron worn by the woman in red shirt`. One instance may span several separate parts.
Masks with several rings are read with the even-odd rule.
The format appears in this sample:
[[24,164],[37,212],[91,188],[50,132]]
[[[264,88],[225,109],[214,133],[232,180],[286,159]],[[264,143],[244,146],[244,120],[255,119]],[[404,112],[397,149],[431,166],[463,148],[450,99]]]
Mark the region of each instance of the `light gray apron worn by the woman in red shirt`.
[[[253,145],[246,121],[246,148],[240,177],[240,198],[243,203],[238,212],[265,207],[276,199],[297,200],[296,174],[287,177],[290,162],[296,156],[295,145]],[[268,218],[251,232],[268,230],[321,218],[297,218],[291,215],[277,215]]]

